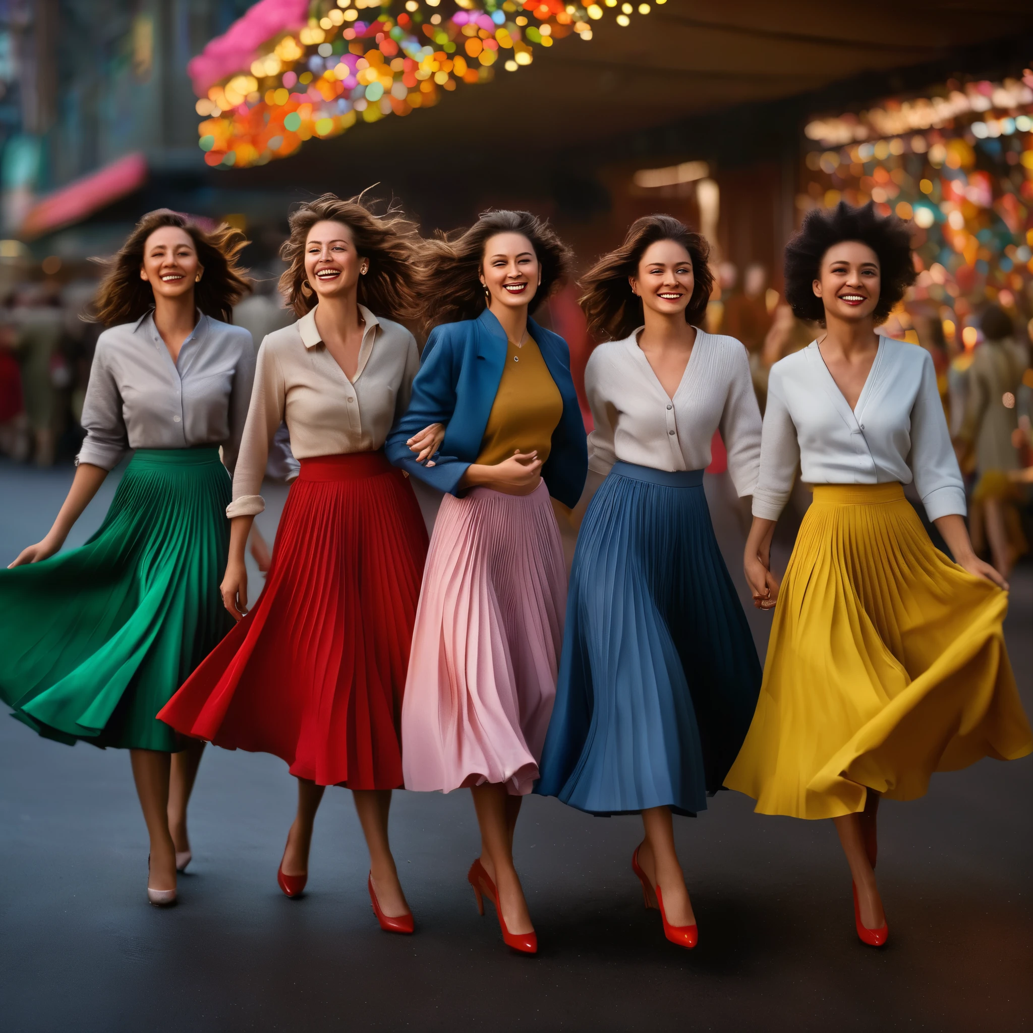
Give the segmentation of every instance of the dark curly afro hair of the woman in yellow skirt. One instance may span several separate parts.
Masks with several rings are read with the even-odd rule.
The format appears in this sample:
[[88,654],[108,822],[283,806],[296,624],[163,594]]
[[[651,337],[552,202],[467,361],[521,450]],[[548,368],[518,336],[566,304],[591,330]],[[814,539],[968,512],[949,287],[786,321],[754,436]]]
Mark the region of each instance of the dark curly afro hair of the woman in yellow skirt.
[[896,215],[877,215],[875,205],[853,208],[841,200],[831,211],[812,209],[785,246],[785,300],[799,319],[825,324],[825,307],[814,293],[821,278],[821,259],[843,241],[867,244],[879,259],[881,289],[875,306],[875,323],[885,322],[894,306],[915,281],[911,234]]

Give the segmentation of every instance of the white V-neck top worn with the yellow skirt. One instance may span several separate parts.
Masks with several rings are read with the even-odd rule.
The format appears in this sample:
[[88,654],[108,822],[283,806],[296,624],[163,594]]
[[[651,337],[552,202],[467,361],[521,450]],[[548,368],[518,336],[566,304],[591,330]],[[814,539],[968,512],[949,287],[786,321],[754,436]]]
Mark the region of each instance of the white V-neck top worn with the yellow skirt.
[[753,514],[777,520],[796,465],[810,484],[884,484],[912,478],[930,520],[965,514],[965,488],[925,348],[879,338],[851,409],[817,342],[772,367]]

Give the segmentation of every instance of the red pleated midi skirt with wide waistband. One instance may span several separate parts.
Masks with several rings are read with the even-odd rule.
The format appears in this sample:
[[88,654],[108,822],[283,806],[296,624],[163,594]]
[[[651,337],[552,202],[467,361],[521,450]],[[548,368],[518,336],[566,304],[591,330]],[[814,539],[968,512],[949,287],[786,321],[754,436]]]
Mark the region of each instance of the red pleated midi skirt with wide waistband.
[[382,451],[301,461],[255,606],[158,717],[319,785],[402,785],[427,529]]

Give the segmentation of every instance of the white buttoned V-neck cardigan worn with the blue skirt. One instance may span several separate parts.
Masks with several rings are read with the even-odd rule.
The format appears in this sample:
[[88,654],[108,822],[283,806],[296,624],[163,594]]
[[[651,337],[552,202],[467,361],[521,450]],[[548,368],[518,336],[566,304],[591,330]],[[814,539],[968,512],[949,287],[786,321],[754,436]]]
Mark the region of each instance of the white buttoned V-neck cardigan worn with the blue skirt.
[[585,392],[595,420],[589,468],[605,475],[620,460],[655,470],[702,470],[720,428],[735,490],[750,495],[760,461],[760,410],[746,348],[733,337],[697,330],[682,381],[668,398],[638,347],[640,332],[600,344],[588,361]]

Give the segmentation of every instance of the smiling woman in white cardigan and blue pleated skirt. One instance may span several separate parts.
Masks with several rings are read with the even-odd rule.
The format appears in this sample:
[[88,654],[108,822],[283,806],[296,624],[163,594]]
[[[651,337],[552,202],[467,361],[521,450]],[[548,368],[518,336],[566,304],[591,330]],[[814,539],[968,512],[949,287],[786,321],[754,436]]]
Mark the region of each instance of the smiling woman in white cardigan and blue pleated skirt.
[[[697,325],[707,241],[638,219],[582,281],[600,344],[585,371],[595,429],[570,572],[556,707],[537,792],[592,814],[640,813],[632,868],[664,934],[696,943],[671,813],[706,810],[742,745],[760,664],[702,489],[720,428],[752,493],[760,412],[746,349]],[[595,489],[598,488],[598,491]]]

